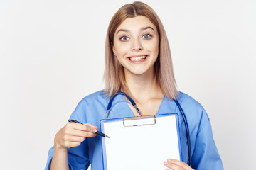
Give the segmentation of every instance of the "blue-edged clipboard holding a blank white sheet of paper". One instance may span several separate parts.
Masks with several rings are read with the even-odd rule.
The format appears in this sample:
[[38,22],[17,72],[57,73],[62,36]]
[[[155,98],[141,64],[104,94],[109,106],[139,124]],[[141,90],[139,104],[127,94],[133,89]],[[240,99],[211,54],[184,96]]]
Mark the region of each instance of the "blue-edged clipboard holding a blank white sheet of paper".
[[183,160],[178,114],[100,120],[104,170],[164,169],[166,159]]

